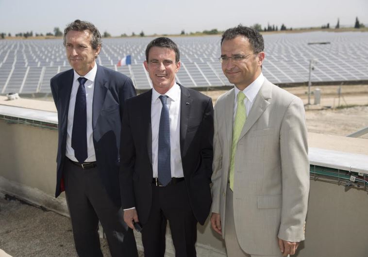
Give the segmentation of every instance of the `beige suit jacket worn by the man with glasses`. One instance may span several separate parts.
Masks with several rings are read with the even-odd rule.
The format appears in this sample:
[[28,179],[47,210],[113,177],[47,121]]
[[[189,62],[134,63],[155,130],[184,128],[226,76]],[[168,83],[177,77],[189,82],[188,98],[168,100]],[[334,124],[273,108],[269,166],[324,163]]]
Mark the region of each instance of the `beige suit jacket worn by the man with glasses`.
[[[234,89],[215,105],[212,212],[225,231],[234,117]],[[236,148],[234,223],[248,254],[279,255],[277,238],[304,240],[309,161],[300,98],[265,80],[254,99]]]

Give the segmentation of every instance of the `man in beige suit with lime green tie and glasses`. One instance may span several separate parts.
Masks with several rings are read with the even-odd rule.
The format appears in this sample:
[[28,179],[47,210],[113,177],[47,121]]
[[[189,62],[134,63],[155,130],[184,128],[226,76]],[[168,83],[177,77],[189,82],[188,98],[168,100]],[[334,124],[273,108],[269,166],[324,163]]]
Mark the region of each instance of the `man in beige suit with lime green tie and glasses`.
[[287,256],[304,240],[309,161],[300,98],[262,74],[263,37],[241,25],[221,39],[234,89],[215,105],[211,225],[229,257]]

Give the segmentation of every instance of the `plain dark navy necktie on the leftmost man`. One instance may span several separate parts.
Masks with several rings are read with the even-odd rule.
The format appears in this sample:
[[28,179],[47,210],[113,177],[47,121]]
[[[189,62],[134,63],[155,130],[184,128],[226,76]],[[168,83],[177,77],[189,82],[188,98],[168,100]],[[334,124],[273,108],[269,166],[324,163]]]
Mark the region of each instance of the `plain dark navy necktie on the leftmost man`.
[[79,88],[75,98],[73,130],[71,133],[71,147],[78,162],[87,159],[87,105],[84,83],[86,78],[78,78]]

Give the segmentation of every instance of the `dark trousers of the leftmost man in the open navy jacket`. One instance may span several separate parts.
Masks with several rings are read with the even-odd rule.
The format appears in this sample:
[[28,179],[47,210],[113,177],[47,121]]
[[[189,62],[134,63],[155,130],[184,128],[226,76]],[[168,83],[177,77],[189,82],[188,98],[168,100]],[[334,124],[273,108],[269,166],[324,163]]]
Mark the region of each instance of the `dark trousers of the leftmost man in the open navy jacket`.
[[82,169],[65,159],[65,193],[80,257],[102,257],[99,220],[112,257],[137,257],[133,230],[123,221],[123,210],[108,196],[97,167]]

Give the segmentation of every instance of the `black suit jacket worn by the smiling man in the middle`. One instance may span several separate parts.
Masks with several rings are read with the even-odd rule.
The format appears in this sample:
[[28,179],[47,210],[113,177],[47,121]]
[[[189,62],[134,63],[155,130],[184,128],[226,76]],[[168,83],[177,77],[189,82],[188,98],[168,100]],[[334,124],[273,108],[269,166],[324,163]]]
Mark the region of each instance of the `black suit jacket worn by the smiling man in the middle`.
[[[213,105],[208,96],[181,88],[180,149],[184,180],[194,216],[209,214],[212,175]],[[126,101],[121,128],[120,190],[123,209],[135,207],[142,224],[152,201],[152,90]]]

